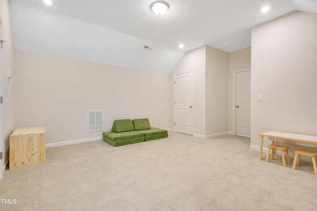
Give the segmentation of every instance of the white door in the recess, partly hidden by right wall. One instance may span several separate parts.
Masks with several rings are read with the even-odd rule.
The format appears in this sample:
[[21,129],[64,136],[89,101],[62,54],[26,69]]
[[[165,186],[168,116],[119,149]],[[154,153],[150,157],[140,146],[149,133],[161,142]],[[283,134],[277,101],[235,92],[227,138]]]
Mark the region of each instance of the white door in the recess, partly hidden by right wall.
[[251,136],[251,71],[236,73],[236,134]]

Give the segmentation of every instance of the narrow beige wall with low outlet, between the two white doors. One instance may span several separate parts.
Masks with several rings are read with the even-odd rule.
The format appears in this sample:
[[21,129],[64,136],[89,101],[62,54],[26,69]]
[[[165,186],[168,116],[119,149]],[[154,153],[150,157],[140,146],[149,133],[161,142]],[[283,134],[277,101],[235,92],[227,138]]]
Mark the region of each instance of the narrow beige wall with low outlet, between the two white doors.
[[[206,136],[228,133],[229,53],[206,47]],[[214,123],[214,127],[212,127]]]

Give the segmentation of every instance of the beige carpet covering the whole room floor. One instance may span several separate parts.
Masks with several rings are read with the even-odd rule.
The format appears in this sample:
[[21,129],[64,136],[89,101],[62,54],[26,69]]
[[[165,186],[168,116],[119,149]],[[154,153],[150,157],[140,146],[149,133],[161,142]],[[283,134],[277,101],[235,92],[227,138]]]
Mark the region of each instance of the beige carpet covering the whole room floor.
[[[260,138],[259,138],[260,139]],[[1,211],[313,211],[317,175],[301,161],[266,163],[250,138],[169,132],[112,147],[104,141],[47,148],[46,164],[6,170]],[[291,159],[293,162],[293,160]]]

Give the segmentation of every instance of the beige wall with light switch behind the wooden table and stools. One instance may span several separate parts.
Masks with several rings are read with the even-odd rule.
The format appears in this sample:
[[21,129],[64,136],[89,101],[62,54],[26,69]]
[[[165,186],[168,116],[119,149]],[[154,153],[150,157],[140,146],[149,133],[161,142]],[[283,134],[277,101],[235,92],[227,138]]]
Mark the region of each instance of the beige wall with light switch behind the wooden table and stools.
[[252,28],[251,148],[267,130],[317,135],[316,26],[317,14],[295,11]]

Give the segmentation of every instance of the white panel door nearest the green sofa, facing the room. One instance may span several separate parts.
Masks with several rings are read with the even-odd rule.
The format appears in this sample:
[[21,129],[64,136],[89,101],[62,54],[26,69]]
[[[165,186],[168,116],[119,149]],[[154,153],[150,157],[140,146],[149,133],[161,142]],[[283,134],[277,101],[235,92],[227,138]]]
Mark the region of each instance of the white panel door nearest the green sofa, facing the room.
[[175,131],[193,135],[194,72],[175,76]]

